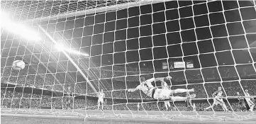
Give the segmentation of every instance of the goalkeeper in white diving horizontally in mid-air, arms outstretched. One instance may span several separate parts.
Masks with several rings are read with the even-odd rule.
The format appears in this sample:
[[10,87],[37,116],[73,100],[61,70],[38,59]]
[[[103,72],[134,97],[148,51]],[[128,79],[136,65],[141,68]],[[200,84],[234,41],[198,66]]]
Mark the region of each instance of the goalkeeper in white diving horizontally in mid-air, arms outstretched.
[[143,91],[144,94],[150,96],[151,98],[157,100],[172,100],[172,101],[185,101],[189,98],[194,98],[194,95],[187,97],[180,96],[172,96],[172,94],[184,93],[184,92],[193,92],[194,89],[158,89],[157,87],[152,86],[152,81],[161,81],[164,79],[172,79],[172,77],[160,77],[160,78],[152,78],[145,80],[144,77],[140,77],[140,85],[138,85],[135,89],[128,89],[129,92],[134,92],[137,90]]

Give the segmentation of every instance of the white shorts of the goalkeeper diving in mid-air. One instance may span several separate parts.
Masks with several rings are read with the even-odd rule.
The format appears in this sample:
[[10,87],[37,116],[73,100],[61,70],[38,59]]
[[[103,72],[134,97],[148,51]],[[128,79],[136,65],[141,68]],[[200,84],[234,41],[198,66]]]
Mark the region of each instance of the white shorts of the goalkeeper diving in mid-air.
[[153,89],[152,91],[152,98],[158,100],[166,100],[171,98],[171,92],[168,89]]

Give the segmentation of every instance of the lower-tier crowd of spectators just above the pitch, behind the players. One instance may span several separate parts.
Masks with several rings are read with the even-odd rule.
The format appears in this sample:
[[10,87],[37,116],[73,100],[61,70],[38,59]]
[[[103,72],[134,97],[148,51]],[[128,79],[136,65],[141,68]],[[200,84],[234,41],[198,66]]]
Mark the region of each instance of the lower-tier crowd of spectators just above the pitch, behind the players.
[[[249,84],[250,85],[250,84]],[[255,91],[251,90],[250,94],[255,94]],[[87,98],[72,98],[72,108],[84,108],[84,109],[96,109],[97,99],[94,97]],[[211,100],[193,100],[193,103],[196,105],[197,111],[204,111],[205,107],[210,106],[209,103],[212,103]],[[209,102],[209,103],[208,103]],[[116,99],[116,98],[106,98],[104,103],[105,110],[130,110],[136,111],[137,105],[140,103],[140,110],[145,111],[163,111],[165,110],[164,103],[162,101],[132,101],[127,102],[126,99]],[[238,101],[233,100],[229,101],[233,111],[238,111]],[[172,104],[172,111],[179,110],[179,111],[191,111],[191,108],[187,107],[187,102],[185,101],[176,101],[171,102]],[[229,110],[232,110],[229,106],[228,102],[226,101],[226,105],[228,106]],[[52,109],[57,108],[67,108],[67,99],[65,96],[45,96],[43,94],[26,94],[19,91],[9,91],[9,90],[1,90],[1,107],[12,107],[12,108],[23,108],[26,106],[27,108],[39,108],[39,107],[47,107]],[[221,111],[222,108],[218,106],[215,108],[215,111]]]

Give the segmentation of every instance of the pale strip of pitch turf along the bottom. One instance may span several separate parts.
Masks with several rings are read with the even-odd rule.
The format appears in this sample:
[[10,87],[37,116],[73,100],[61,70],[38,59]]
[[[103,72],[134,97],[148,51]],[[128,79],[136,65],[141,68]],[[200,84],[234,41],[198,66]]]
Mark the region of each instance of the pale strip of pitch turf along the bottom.
[[1,123],[256,123],[251,112],[10,110],[2,108]]

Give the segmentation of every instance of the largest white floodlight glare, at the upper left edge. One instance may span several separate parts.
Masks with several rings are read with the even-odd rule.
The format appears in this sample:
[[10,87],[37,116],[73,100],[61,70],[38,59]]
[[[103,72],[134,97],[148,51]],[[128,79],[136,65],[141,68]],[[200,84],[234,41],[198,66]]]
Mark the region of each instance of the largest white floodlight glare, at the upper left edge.
[[11,33],[14,33],[16,35],[20,35],[23,38],[26,38],[28,40],[40,40],[40,37],[38,36],[37,32],[35,30],[32,30],[26,26],[23,26],[21,23],[13,22],[9,19],[9,16],[1,11],[0,13],[1,17],[1,28],[4,28],[8,30]]

